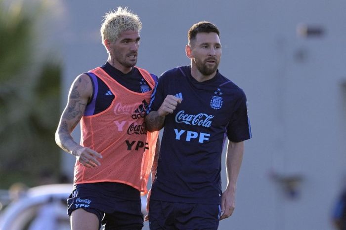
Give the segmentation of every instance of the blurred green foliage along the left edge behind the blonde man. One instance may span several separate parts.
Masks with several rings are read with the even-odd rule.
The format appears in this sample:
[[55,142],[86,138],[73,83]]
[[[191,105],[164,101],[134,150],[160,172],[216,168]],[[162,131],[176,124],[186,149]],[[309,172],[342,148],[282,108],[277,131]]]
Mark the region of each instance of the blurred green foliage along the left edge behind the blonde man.
[[60,113],[59,61],[40,60],[35,23],[40,11],[5,8],[0,0],[0,188],[40,184],[42,171],[59,171],[54,132]]

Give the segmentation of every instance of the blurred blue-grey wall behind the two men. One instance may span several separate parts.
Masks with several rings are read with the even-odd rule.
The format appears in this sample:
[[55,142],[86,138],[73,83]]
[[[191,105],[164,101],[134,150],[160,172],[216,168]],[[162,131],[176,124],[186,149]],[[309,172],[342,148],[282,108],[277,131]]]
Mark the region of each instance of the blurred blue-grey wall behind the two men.
[[[346,174],[345,0],[41,2],[54,16],[43,22],[46,48],[54,47],[51,58],[62,60],[59,113],[74,78],[106,62],[99,28],[110,9],[128,6],[140,16],[137,65],[156,75],[189,64],[184,47],[192,24],[215,23],[219,70],[246,92],[253,133],[245,143],[235,212],[219,229],[332,229]],[[61,153],[57,167],[71,178],[74,161]]]

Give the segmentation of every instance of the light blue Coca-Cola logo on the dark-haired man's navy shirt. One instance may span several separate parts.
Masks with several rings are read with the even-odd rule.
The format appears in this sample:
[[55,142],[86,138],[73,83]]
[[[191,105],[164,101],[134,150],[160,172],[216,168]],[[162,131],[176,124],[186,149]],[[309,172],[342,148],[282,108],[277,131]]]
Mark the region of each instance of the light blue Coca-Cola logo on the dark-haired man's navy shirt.
[[179,111],[175,115],[175,122],[177,123],[185,123],[189,125],[197,125],[202,127],[210,127],[212,125],[211,119],[214,117],[214,115],[207,115],[207,114],[197,114],[197,115],[189,115],[185,114],[185,111]]

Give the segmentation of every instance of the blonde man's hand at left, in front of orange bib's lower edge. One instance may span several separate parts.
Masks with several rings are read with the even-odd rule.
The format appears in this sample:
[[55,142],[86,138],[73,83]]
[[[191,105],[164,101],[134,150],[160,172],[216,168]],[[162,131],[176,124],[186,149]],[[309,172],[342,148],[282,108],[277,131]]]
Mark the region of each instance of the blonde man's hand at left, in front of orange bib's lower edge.
[[87,147],[78,147],[72,151],[72,154],[75,155],[77,160],[87,168],[101,165],[97,158],[102,158],[102,155]]

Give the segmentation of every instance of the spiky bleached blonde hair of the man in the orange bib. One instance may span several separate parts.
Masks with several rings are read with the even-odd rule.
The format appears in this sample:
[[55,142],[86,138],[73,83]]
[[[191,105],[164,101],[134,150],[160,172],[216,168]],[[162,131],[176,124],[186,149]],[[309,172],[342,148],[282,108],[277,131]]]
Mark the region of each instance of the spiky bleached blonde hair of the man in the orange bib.
[[142,23],[138,15],[130,12],[128,7],[122,8],[121,6],[115,11],[109,11],[104,15],[104,21],[101,25],[102,44],[104,40],[108,39],[111,42],[119,38],[120,33],[123,31],[140,31]]

